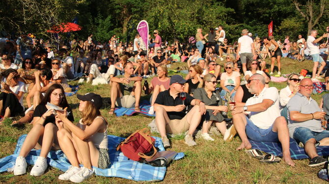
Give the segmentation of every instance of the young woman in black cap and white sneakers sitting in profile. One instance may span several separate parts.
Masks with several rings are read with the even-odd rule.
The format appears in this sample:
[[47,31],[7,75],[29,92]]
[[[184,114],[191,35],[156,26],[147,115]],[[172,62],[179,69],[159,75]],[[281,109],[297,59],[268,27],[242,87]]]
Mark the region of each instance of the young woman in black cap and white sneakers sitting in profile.
[[[70,180],[80,183],[93,174],[93,167],[109,168],[108,153],[108,122],[99,109],[102,107],[102,97],[99,94],[77,94],[80,99],[79,111],[82,118],[75,125],[66,118],[66,112],[57,112],[56,124],[59,146],[69,159],[72,166],[59,175],[59,180]],[[63,128],[68,127],[68,130]],[[79,164],[83,165],[80,168]]]

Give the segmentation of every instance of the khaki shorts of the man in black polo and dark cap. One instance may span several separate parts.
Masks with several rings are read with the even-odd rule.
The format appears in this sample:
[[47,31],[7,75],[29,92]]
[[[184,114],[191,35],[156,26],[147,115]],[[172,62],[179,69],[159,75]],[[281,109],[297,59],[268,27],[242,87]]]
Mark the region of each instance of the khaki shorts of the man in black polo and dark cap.
[[170,134],[180,134],[188,131],[189,128],[190,123],[185,115],[181,120],[170,120],[168,124],[165,125],[165,132]]

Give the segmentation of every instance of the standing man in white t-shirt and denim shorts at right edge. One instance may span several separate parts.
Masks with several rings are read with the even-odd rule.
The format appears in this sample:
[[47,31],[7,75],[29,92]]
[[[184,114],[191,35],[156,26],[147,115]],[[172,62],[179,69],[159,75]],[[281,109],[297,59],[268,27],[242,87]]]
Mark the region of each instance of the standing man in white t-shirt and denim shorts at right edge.
[[[307,37],[307,48],[310,51],[310,54],[313,58],[313,69],[312,69],[312,82],[319,82],[319,79],[322,79],[320,77],[320,73],[323,70],[323,68],[326,66],[326,62],[322,59],[320,56],[320,49],[317,45],[319,41],[322,40],[322,38],[327,37],[328,33],[324,33],[323,36],[320,36],[318,39],[316,38],[316,35],[318,35],[318,31],[312,30],[311,35]],[[316,70],[318,69],[319,63],[321,64],[318,73],[316,73]]]

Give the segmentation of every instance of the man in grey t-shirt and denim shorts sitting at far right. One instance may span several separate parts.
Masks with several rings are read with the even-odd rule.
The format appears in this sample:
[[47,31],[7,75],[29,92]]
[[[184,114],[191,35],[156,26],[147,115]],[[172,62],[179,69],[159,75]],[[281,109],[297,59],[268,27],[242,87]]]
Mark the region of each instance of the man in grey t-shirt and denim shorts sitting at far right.
[[311,98],[313,82],[304,78],[297,92],[288,102],[288,127],[290,137],[300,142],[305,153],[310,157],[308,166],[323,166],[327,159],[319,156],[317,146],[329,146],[329,131],[324,130],[321,120],[326,112],[322,112],[318,103]]

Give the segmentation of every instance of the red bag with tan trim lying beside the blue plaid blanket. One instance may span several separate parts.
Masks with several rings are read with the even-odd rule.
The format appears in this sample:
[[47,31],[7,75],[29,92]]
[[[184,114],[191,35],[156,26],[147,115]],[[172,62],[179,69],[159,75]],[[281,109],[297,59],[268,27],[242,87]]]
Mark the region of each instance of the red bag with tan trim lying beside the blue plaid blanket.
[[155,139],[150,136],[148,128],[143,128],[122,141],[116,150],[121,150],[129,159],[142,162],[143,158],[152,158],[157,153],[154,144]]

